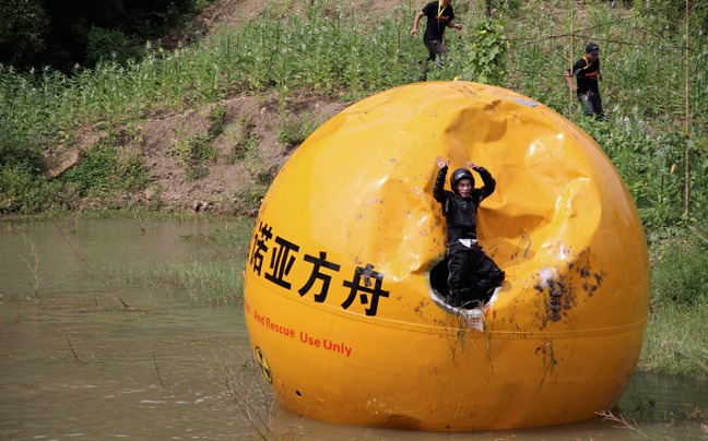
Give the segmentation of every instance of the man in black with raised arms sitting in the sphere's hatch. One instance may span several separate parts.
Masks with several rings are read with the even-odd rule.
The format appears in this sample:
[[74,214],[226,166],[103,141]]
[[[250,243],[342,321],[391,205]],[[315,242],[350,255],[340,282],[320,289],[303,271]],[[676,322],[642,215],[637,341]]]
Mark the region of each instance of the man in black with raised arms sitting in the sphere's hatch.
[[477,243],[477,207],[496,189],[496,181],[484,167],[472,162],[467,166],[480,174],[484,186],[474,188],[474,176],[467,168],[458,168],[450,176],[452,191],[445,190],[445,178],[450,162],[437,156],[440,168],[433,195],[442,204],[448,229],[448,285],[447,302],[451,307],[474,308],[492,297],[493,288],[504,282],[505,273]]

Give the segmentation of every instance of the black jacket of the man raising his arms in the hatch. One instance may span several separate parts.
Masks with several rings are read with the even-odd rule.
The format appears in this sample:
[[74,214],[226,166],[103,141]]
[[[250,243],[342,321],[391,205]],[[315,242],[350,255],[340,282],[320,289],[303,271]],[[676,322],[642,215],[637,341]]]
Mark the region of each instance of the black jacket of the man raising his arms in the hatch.
[[445,190],[447,166],[438,172],[433,188],[435,200],[442,204],[442,214],[447,221],[448,241],[452,243],[458,239],[476,239],[476,211],[483,200],[494,193],[496,181],[486,168],[476,170],[482,177],[484,186],[472,189],[469,198],[462,198],[451,191]]

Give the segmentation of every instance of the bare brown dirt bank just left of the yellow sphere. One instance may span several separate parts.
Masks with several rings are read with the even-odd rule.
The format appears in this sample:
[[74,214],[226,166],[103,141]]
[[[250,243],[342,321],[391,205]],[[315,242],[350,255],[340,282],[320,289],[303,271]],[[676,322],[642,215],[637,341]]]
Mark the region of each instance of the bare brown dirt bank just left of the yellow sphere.
[[[307,94],[294,94],[285,104],[291,123],[304,118],[324,122],[346,106]],[[223,132],[210,141],[216,158],[204,164],[206,176],[190,178],[189,168],[169,151],[180,138],[205,135],[213,127],[210,116],[217,107]],[[152,183],[144,192],[131,195],[130,204],[167,211],[256,214],[257,201],[245,199],[258,199],[298,146],[279,140],[282,112],[275,94],[243,95],[144,122],[140,128],[143,136],[132,147],[142,150],[144,164],[152,170]]]

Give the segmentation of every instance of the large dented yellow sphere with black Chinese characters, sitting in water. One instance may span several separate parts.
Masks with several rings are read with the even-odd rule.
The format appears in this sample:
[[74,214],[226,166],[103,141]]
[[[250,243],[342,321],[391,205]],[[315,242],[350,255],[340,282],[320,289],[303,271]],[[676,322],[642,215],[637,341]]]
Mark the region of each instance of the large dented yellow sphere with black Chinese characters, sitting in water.
[[[477,234],[506,281],[483,313],[440,298],[437,155],[497,181]],[[250,342],[286,408],[486,430],[620,400],[649,264],[632,199],[590,136],[507,90],[439,82],[366,98],[309,136],[263,201],[245,281]]]

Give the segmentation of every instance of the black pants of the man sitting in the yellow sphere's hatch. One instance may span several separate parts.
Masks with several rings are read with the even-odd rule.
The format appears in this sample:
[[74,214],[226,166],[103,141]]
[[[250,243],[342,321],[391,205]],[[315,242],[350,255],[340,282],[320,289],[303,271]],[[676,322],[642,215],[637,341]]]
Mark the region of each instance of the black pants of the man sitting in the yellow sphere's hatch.
[[452,242],[448,259],[450,305],[453,307],[486,302],[492,288],[504,281],[504,271],[482,251],[482,247],[468,248]]

